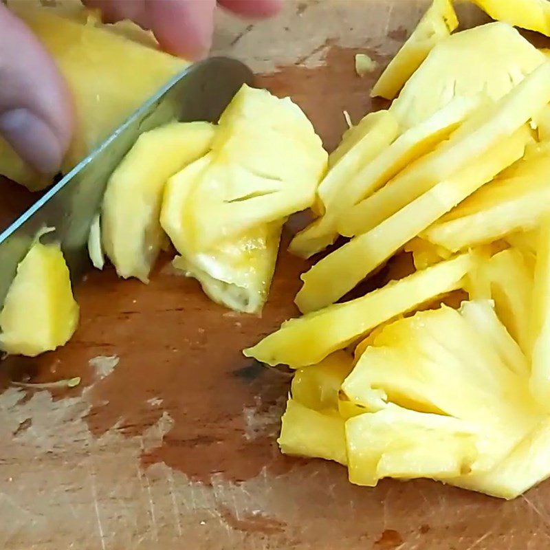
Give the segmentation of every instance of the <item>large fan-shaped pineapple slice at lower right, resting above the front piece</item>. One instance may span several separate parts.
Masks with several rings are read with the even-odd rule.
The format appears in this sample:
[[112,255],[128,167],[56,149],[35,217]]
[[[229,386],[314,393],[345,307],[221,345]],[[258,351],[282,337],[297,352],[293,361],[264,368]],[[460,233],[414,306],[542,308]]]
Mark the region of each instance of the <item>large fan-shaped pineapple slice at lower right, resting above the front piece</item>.
[[478,456],[472,472],[483,472],[536,428],[544,411],[531,397],[525,355],[490,303],[464,307],[478,311],[464,315],[443,306],[386,327],[342,391],[370,411],[395,404],[475,426]]

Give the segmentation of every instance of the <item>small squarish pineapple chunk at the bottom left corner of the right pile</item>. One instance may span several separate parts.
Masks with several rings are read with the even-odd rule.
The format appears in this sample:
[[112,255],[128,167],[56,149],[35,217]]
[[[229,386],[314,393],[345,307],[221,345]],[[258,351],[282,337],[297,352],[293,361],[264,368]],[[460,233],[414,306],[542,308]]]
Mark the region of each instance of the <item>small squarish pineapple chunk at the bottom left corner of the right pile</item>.
[[319,412],[289,399],[277,443],[284,454],[313,456],[346,465],[344,422],[338,412]]

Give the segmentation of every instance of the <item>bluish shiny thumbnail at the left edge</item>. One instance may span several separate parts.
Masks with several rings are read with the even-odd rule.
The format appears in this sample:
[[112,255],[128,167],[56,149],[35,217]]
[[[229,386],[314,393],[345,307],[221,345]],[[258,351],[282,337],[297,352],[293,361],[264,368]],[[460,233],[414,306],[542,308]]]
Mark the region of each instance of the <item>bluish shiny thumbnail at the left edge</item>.
[[59,141],[41,118],[28,109],[12,109],[0,114],[0,134],[35,170],[57,172],[63,160]]

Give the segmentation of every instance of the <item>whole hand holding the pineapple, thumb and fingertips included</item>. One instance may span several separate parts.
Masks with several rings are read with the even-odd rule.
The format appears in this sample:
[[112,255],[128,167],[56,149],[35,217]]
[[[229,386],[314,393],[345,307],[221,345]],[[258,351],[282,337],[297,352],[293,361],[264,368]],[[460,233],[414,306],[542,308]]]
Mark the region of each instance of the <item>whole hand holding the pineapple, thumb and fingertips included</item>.
[[[131,19],[159,45],[198,59],[210,49],[217,4],[245,17],[270,17],[283,0],[85,0],[104,21]],[[0,1],[0,135],[41,173],[58,170],[74,129],[72,102],[54,60]]]

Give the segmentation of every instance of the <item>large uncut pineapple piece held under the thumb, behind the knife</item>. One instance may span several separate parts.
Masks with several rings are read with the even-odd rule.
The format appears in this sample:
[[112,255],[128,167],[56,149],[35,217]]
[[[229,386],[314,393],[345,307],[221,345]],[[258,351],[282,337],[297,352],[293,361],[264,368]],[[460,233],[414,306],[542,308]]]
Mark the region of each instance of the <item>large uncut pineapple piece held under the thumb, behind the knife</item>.
[[[54,56],[72,91],[77,131],[65,157],[65,173],[188,64],[102,28],[93,16],[62,17],[25,5],[13,10]],[[0,173],[31,189],[50,181],[37,179],[3,141]]]

